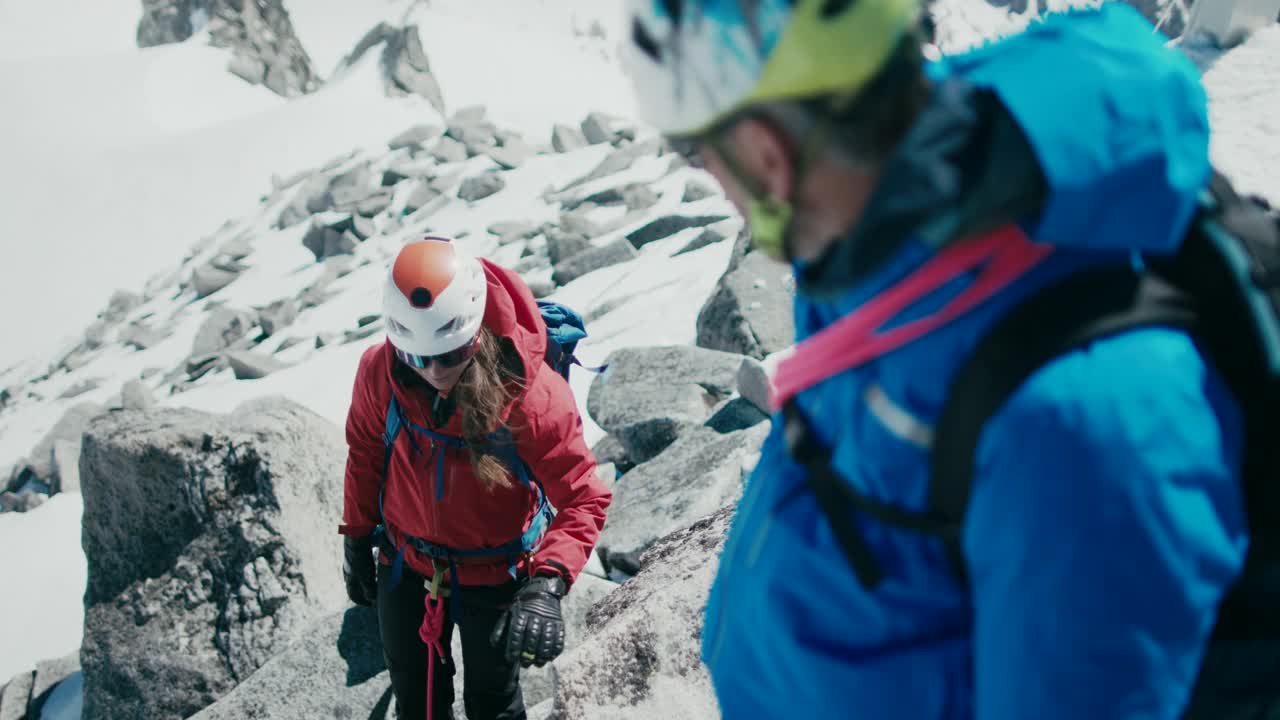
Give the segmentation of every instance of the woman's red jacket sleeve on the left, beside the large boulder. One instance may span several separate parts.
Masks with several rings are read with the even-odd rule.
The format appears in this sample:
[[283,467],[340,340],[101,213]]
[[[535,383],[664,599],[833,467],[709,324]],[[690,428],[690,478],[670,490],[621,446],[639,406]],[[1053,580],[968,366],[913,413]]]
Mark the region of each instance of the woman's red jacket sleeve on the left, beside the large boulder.
[[375,383],[381,368],[381,346],[365,351],[347,410],[347,474],[343,479],[342,525],[344,536],[365,537],[380,523],[378,491],[383,482],[383,430],[387,410],[379,410]]

